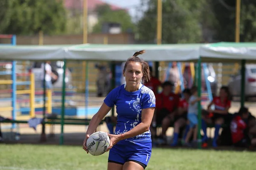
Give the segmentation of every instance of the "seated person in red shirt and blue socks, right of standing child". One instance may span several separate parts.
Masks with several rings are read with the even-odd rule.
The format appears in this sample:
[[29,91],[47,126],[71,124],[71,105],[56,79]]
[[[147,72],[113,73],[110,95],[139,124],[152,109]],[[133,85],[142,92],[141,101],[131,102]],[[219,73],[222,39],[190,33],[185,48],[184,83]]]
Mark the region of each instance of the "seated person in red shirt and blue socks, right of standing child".
[[[212,110],[211,106],[214,105],[215,109]],[[217,147],[217,139],[219,136],[219,130],[221,128],[221,125],[224,123],[225,120],[229,119],[228,110],[231,107],[231,101],[229,99],[229,90],[227,86],[222,86],[220,89],[219,96],[216,96],[213,98],[212,102],[208,105],[208,115],[202,116],[202,129],[204,131],[204,137],[202,139],[203,145],[204,142],[207,141],[207,123],[215,124],[215,132],[214,132],[214,138],[212,140],[212,146]]]

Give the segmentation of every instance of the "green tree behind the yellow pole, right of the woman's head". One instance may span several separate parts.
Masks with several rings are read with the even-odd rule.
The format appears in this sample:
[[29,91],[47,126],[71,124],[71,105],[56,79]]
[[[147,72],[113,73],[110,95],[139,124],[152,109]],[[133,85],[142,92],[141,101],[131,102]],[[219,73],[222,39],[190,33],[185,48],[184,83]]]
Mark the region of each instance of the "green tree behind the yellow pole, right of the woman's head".
[[[202,0],[163,0],[162,43],[201,42],[201,6]],[[155,43],[156,31],[157,1],[148,0],[148,9],[138,23],[140,41]]]

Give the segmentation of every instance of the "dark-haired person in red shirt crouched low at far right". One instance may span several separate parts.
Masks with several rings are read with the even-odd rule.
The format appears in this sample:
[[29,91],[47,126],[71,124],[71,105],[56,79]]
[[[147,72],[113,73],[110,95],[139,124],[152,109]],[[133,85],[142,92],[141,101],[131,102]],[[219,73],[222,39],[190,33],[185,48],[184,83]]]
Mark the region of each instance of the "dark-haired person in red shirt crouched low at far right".
[[246,137],[244,132],[247,128],[245,120],[247,120],[248,117],[248,108],[242,107],[230,123],[232,142],[236,147],[248,147],[250,145],[250,139]]

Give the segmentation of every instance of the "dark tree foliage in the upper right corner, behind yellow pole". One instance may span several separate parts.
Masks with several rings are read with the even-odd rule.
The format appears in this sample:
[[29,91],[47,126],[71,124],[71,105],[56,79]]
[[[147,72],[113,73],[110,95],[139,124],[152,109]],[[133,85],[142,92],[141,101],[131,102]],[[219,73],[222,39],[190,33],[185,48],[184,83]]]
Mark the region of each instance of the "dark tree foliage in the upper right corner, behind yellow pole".
[[[208,0],[215,16],[215,39],[233,42],[236,33],[236,0]],[[256,1],[241,0],[240,41],[256,41]]]

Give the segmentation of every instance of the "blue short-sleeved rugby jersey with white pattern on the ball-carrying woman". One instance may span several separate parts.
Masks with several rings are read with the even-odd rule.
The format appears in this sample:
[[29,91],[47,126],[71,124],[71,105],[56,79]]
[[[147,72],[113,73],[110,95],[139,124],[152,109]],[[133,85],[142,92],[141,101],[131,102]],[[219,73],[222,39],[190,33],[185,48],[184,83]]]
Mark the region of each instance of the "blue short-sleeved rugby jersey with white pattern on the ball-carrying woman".
[[[114,88],[104,102],[111,108],[116,105],[117,125],[115,134],[122,134],[136,127],[141,122],[142,109],[155,107],[155,100],[153,91],[142,84],[140,84],[139,90],[134,92],[126,91],[125,84]],[[125,140],[151,142],[151,132],[148,130]]]

